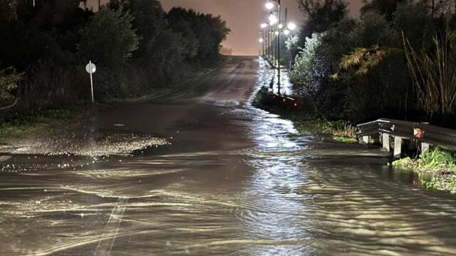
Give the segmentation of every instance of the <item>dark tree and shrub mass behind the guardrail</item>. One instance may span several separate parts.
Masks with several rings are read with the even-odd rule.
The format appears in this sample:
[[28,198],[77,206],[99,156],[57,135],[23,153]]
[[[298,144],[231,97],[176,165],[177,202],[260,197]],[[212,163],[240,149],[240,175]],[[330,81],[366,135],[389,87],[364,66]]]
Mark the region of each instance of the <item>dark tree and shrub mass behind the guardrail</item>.
[[306,25],[291,44],[291,78],[317,116],[455,126],[456,1],[371,0],[358,19],[344,0],[299,3]]

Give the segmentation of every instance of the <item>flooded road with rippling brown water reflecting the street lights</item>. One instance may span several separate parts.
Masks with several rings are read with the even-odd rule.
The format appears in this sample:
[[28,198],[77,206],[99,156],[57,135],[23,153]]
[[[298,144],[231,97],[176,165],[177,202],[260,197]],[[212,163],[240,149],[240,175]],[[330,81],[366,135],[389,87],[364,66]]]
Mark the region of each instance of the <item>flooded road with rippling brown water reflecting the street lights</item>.
[[0,173],[0,255],[455,254],[454,196],[403,182],[380,150],[299,135],[252,107],[269,76],[234,58],[91,123],[170,145],[75,168],[38,155],[36,171]]

